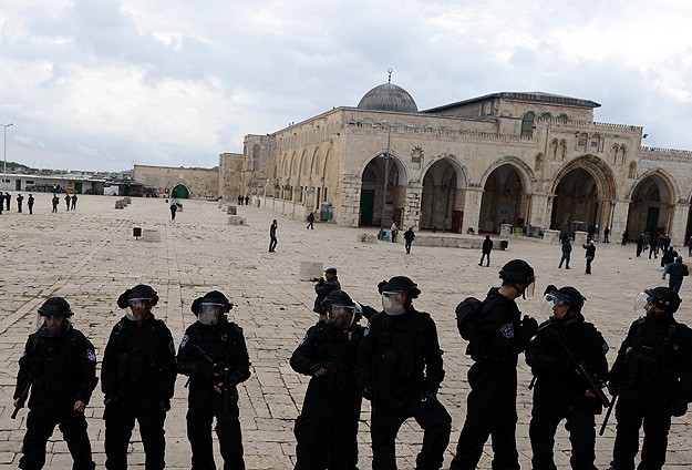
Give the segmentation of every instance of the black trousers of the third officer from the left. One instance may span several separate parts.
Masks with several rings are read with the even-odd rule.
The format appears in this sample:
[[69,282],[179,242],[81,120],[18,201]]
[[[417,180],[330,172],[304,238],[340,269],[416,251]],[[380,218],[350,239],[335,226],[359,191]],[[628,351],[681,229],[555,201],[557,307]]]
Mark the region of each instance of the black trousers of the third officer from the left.
[[193,450],[193,470],[215,470],[214,447],[211,441],[211,423],[216,418],[216,437],[218,438],[224,470],[244,470],[242,433],[238,419],[238,403],[230,403],[224,409],[224,398],[214,390],[195,394],[190,388],[187,397],[187,439]]

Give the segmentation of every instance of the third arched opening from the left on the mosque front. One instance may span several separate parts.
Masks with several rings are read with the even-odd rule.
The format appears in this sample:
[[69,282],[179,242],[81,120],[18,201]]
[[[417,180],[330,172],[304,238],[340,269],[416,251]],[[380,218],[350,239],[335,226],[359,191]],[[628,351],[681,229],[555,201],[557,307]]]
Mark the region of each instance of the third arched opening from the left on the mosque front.
[[502,223],[524,226],[524,193],[521,175],[514,165],[493,170],[483,188],[478,232],[498,233]]

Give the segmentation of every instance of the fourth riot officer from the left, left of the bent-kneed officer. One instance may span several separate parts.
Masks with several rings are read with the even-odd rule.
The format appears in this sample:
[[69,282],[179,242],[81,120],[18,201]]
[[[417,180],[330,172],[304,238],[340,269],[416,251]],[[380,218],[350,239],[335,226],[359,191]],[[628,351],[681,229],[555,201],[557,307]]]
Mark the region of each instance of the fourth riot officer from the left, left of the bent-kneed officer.
[[354,469],[361,396],[355,379],[363,336],[354,324],[355,303],[332,290],[321,305],[326,321],[310,327],[291,356],[291,367],[311,376],[296,420],[296,469]]

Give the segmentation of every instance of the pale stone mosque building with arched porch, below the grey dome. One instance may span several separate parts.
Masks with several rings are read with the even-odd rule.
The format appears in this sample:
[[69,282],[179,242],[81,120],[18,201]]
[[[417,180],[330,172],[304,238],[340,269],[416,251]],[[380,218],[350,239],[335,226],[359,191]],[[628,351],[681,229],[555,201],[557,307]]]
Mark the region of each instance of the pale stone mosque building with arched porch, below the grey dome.
[[246,136],[241,192],[301,218],[330,203],[351,227],[591,225],[613,241],[668,232],[674,244],[689,232],[692,152],[643,147],[642,127],[595,122],[592,101],[494,93],[422,112],[361,105]]

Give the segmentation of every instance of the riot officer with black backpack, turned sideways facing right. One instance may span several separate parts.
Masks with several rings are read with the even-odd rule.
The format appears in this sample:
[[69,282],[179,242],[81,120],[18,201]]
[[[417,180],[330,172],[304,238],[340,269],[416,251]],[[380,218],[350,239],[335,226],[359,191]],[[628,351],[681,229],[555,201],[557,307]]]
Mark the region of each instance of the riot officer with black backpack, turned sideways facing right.
[[471,392],[451,470],[478,466],[488,437],[493,440],[493,468],[519,469],[517,451],[517,359],[536,334],[538,323],[521,318],[516,299],[534,294],[534,268],[524,259],[512,259],[499,272],[502,285],[483,300],[483,325],[471,339],[467,354]]

